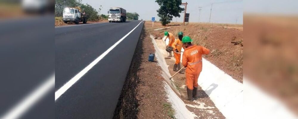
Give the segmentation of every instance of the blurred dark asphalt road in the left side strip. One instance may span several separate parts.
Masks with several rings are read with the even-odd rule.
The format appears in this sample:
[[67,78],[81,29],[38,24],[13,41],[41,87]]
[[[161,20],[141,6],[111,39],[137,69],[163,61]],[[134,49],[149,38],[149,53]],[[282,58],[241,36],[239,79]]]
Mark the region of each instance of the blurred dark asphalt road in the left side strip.
[[[1,19],[0,21],[0,118],[19,107],[32,91],[54,75],[54,16]],[[54,82],[54,78],[52,78]],[[54,83],[20,118],[54,118]],[[45,92],[44,92],[45,93]]]

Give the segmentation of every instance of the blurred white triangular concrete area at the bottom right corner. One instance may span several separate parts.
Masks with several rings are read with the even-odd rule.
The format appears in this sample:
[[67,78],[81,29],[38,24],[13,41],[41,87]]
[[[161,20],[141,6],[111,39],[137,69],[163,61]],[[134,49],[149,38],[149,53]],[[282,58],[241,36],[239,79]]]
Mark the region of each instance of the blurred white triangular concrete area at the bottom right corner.
[[281,101],[266,94],[244,78],[244,107],[246,119],[297,119]]

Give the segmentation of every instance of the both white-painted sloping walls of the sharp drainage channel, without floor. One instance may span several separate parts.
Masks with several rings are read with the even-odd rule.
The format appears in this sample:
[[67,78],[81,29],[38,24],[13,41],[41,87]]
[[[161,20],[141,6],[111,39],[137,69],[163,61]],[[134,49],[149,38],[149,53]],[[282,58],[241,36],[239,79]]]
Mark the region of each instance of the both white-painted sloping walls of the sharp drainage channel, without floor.
[[[156,50],[156,58],[162,67],[168,101],[176,111],[176,118],[190,119],[197,117],[186,108],[186,104],[179,98],[181,94],[176,89],[175,84],[169,80],[170,73],[161,49],[157,46],[154,37],[152,35],[150,37]],[[198,84],[226,118],[243,118],[243,84],[237,82],[204,58],[203,60],[204,66]]]

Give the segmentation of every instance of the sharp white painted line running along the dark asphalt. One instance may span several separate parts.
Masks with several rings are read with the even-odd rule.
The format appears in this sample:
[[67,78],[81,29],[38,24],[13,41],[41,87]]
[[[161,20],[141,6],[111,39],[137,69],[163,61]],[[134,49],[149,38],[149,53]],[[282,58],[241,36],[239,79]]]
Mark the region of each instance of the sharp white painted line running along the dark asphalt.
[[[141,21],[136,27],[138,27],[143,21]],[[134,27],[134,29],[136,29]],[[125,39],[131,32],[134,31],[132,29],[130,32],[128,32],[125,36],[123,36],[120,40],[118,40],[113,46],[108,48],[103,54],[101,54],[99,57],[97,57],[94,61],[92,61],[87,67],[85,67],[82,71],[77,73],[72,79],[70,79],[66,84],[64,84],[62,87],[60,87],[56,92],[55,92],[55,101],[68,90],[75,82],[77,82],[82,76],[84,76],[94,65],[96,65],[105,55],[107,55],[111,50],[113,50],[122,40]]]

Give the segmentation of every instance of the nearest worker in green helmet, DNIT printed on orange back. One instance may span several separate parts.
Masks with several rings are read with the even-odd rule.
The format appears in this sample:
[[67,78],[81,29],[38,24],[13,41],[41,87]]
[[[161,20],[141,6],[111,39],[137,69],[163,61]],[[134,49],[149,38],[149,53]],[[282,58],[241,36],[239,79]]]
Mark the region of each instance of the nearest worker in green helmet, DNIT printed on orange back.
[[185,47],[182,56],[182,65],[186,67],[187,100],[193,101],[197,98],[198,77],[202,71],[202,55],[209,54],[209,49],[203,46],[191,44],[193,40],[189,36],[182,38]]

